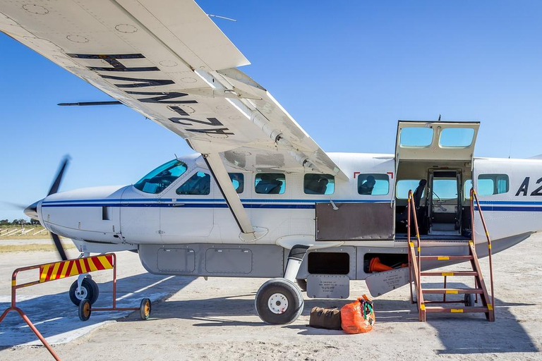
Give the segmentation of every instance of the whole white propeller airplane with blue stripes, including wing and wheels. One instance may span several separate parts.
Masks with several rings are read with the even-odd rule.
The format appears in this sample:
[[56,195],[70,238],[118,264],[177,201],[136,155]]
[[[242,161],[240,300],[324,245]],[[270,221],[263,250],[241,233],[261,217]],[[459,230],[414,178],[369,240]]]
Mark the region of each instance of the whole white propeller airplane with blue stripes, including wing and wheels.
[[[255,297],[264,322],[299,317],[300,287],[344,298],[350,280],[386,274],[369,270],[375,257],[390,267],[408,262],[409,190],[428,255],[442,245],[461,255],[476,235],[471,186],[493,252],[542,229],[541,160],[473,157],[478,122],[399,121],[395,154],[326,153],[239,71],[248,61],[193,1],[4,1],[0,30],[197,153],[133,185],[56,192],[63,166],[25,213],[57,245],[63,235],[84,255],[138,252],[153,274],[271,278]],[[483,228],[475,229],[481,245]],[[382,277],[370,288],[391,289]],[[97,288],[80,278],[70,294],[93,301]]]

